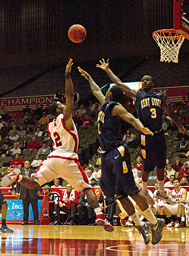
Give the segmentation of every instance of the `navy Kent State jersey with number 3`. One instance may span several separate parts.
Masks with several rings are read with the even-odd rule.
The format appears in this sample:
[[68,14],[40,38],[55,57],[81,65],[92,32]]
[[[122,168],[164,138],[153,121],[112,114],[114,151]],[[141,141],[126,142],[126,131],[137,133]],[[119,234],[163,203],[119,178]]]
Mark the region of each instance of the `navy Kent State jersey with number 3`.
[[135,106],[140,122],[152,132],[162,129],[163,93],[137,91]]

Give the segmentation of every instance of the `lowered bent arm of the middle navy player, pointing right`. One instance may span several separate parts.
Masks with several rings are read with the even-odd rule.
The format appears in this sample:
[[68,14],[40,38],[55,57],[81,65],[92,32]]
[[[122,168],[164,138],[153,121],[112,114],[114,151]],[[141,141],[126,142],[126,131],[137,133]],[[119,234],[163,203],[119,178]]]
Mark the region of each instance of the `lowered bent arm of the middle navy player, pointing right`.
[[144,125],[139,121],[139,119],[135,119],[135,117],[127,112],[125,108],[120,105],[115,105],[112,110],[112,115],[117,115],[124,121],[132,124],[137,130],[143,132],[144,134],[154,135],[148,128],[144,127]]

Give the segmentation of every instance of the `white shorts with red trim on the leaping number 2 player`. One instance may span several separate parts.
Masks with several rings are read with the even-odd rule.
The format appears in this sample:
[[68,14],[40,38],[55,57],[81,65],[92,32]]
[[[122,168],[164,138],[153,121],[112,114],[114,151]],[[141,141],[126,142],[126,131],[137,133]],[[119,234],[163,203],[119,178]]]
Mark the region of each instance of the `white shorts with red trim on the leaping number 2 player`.
[[89,188],[88,177],[84,172],[76,153],[56,149],[47,156],[31,178],[40,186],[54,178],[63,178],[78,192]]

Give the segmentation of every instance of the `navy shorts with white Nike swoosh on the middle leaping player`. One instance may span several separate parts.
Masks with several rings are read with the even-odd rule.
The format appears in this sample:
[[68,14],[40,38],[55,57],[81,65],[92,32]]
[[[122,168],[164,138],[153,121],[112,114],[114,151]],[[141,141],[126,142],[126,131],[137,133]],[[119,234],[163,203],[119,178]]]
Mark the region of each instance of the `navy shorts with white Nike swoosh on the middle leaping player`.
[[135,185],[127,146],[119,146],[101,155],[100,187],[108,197],[127,197],[139,193]]

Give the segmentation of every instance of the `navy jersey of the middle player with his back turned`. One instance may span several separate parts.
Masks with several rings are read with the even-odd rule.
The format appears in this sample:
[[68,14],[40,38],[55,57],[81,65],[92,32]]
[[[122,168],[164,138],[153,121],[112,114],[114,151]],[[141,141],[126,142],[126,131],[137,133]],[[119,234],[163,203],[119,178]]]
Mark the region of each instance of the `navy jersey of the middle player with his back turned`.
[[118,145],[123,144],[120,137],[121,125],[120,119],[112,116],[112,109],[117,102],[105,102],[98,113],[98,134],[100,147],[103,151],[110,151]]

